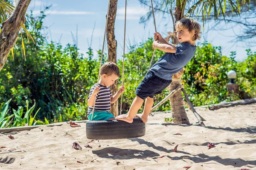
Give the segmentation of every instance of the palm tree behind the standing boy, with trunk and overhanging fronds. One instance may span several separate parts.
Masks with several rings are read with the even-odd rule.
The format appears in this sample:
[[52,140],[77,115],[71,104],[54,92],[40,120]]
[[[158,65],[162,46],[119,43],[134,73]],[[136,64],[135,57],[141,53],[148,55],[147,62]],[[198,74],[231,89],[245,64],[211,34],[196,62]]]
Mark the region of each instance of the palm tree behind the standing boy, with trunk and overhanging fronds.
[[[139,0],[140,3],[151,8],[150,1],[152,0]],[[184,17],[200,17],[204,23],[209,17],[214,17],[214,20],[218,20],[221,15],[225,20],[225,13],[240,15],[241,9],[248,8],[250,0],[160,0],[155,1],[154,11],[155,13],[168,13],[172,17],[173,25]],[[246,6],[245,6],[246,5]],[[174,11],[174,12],[173,12]],[[145,16],[140,18],[140,22],[145,23],[152,17],[152,10],[150,10]],[[176,30],[173,27],[173,32],[168,33],[170,36],[168,41],[172,38],[172,43],[177,44]],[[169,85],[169,92],[173,91],[177,86],[181,84],[181,77],[183,70],[175,74],[172,79],[171,85]],[[186,111],[183,108],[183,100],[181,91],[178,91],[175,95],[170,97],[170,104],[172,107],[172,117],[174,123],[177,124],[189,124]]]

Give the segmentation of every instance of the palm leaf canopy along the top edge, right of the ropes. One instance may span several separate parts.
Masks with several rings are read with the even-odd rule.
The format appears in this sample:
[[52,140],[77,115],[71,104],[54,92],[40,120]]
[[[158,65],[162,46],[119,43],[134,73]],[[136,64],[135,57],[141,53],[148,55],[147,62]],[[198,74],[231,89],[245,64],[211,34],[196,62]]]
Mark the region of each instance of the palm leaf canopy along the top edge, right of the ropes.
[[[150,0],[139,0],[141,4],[150,4]],[[151,1],[152,2],[152,1]],[[209,19],[218,20],[223,18],[240,17],[245,8],[251,8],[254,1],[250,0],[198,0],[198,1],[187,1],[187,0],[156,0],[153,6],[156,6],[160,10],[155,10],[154,13],[157,14],[172,14],[175,12],[175,19],[173,22],[177,22],[183,18],[192,17],[201,19],[203,22],[203,28]],[[231,15],[232,14],[232,15]],[[152,11],[148,11],[144,16],[140,18],[140,23],[148,22],[152,17]],[[225,21],[226,22],[226,21]]]

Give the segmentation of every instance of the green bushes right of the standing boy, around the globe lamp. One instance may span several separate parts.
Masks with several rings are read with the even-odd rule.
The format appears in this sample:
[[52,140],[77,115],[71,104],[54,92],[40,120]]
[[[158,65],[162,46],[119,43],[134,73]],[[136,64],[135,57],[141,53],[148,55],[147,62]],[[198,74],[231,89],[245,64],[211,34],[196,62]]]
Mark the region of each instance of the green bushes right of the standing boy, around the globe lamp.
[[[253,62],[256,55],[250,53],[244,62],[236,62],[235,57],[235,52],[230,57],[221,56],[221,47],[212,47],[208,43],[197,48],[195,57],[185,66],[186,71],[182,77],[182,83],[193,105],[210,105],[255,96],[256,81],[249,78],[253,77],[254,72],[249,77],[244,74],[247,70],[252,70],[253,63],[256,64],[255,60]],[[236,71],[239,95],[230,95],[227,91],[227,72],[230,70]]]

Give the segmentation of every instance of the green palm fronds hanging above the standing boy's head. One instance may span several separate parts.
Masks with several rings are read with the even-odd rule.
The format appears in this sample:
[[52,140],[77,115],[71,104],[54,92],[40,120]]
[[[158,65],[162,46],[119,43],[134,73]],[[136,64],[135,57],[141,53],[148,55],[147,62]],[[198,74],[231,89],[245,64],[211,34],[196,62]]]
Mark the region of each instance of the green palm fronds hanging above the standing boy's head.
[[[139,0],[145,6],[149,6],[150,0]],[[226,11],[231,11],[233,15],[240,16],[243,6],[249,8],[250,0],[156,0],[154,8],[157,12],[169,13],[175,11],[175,6],[180,6],[182,10],[180,18],[184,17],[200,17],[204,22],[209,17],[214,17],[218,20],[219,16],[225,19]],[[150,7],[150,6],[149,6]],[[230,12],[229,12],[230,13]],[[151,11],[147,16],[141,17],[141,22],[144,23],[151,18]]]

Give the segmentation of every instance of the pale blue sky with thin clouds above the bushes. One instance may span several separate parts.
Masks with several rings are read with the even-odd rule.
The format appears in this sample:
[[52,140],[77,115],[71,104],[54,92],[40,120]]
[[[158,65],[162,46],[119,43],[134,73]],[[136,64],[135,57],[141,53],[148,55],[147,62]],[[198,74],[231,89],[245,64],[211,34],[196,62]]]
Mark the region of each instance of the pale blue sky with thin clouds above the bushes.
[[[33,10],[35,15],[39,14],[40,10],[44,9],[44,6],[51,5],[52,7],[47,11],[47,17],[44,20],[44,25],[49,27],[47,35],[49,40],[58,42],[62,45],[67,43],[73,44],[72,33],[76,37],[76,28],[78,28],[78,48],[81,53],[85,53],[90,45],[90,40],[93,32],[92,48],[94,53],[99,49],[102,49],[102,42],[105,29],[105,16],[108,10],[108,0],[32,0],[28,10]],[[148,7],[144,7],[138,0],[128,0],[127,4],[127,21],[126,21],[126,48],[128,52],[128,46],[145,42],[148,37],[153,37],[154,24],[151,19],[146,25],[139,23],[140,17],[146,14]],[[125,12],[125,0],[118,0],[117,15],[115,23],[115,34],[117,40],[117,56],[122,57],[123,53],[123,37],[124,37],[124,12]],[[167,31],[172,31],[172,19],[170,15],[165,15],[163,19],[162,14],[156,15],[157,31],[160,34],[167,35]],[[208,26],[214,23],[209,23],[202,31],[202,39],[200,42],[207,41],[214,46],[222,47],[222,54],[229,56],[230,51],[236,51],[236,60],[241,61],[246,59],[245,49],[249,48],[244,42],[231,43],[236,32],[239,32],[241,28],[235,25],[222,24],[224,29],[221,31],[208,30]],[[253,51],[256,51],[256,47],[250,47]],[[152,49],[153,50],[153,49]],[[107,46],[105,44],[105,52],[107,52]]]

